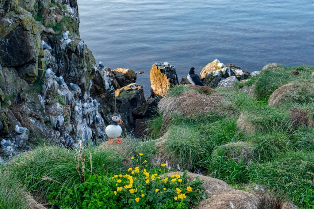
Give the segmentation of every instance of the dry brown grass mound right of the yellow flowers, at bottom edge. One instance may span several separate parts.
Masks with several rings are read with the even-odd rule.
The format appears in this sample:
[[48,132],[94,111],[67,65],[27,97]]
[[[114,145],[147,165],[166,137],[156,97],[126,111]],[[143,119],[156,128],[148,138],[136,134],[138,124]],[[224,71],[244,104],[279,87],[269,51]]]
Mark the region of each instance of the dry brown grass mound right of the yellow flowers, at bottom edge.
[[[173,174],[183,175],[183,172],[171,172]],[[187,173],[190,180],[198,177],[204,180],[202,186],[205,188],[209,198],[201,200],[197,208],[200,209],[295,209],[295,205],[289,202],[279,201],[262,191],[241,191],[235,190],[224,181],[214,179],[199,174]]]

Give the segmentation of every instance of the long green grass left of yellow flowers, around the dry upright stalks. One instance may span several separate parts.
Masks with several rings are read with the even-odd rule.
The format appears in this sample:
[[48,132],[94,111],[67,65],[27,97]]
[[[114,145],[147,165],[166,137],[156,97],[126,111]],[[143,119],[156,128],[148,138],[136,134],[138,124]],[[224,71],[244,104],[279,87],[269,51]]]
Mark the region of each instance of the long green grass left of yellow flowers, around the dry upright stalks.
[[[91,174],[89,153],[92,154],[93,174],[106,175],[111,172],[119,172],[122,165],[122,157],[113,151],[95,150],[89,147],[85,149],[85,174]],[[76,163],[73,158],[75,150],[61,147],[38,147],[30,151],[26,156],[18,156],[14,162],[2,166],[3,172],[16,175],[19,183],[27,186],[29,191],[41,191],[41,196],[48,196],[50,192],[57,192],[62,197],[67,189],[75,188],[81,183],[76,171]],[[60,184],[49,180],[41,180],[47,176]]]

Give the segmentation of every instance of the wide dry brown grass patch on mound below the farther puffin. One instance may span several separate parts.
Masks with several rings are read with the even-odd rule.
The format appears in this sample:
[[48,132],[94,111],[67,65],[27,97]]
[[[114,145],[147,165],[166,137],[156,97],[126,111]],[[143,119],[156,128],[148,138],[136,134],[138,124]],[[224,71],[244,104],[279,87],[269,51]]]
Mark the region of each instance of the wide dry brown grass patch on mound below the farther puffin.
[[182,113],[186,116],[194,116],[199,112],[217,110],[223,97],[218,94],[204,95],[197,91],[188,91],[176,97],[164,97],[158,104],[158,109],[164,115],[170,113]]

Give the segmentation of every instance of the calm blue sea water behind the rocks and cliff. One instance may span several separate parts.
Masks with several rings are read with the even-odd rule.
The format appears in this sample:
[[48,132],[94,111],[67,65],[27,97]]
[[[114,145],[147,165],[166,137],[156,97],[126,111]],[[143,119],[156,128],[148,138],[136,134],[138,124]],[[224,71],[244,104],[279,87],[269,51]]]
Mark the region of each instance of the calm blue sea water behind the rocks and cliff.
[[314,64],[314,0],[80,0],[78,8],[96,62],[144,71],[137,83],[146,96],[155,62],[175,65],[180,80],[215,59],[249,72]]

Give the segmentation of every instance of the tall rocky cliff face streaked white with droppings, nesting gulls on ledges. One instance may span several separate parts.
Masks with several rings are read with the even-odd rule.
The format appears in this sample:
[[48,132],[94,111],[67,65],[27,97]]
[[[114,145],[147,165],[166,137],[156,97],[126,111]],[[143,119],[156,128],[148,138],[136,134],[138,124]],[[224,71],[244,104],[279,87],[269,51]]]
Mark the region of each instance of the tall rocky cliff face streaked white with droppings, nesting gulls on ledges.
[[[14,143],[0,149],[0,158],[27,149],[39,138],[69,147],[77,139],[103,140],[101,133],[115,112],[115,89],[108,68],[95,64],[80,38],[79,23],[77,0],[0,2],[0,134]],[[63,39],[65,31],[69,39]],[[52,49],[41,46],[42,40]],[[46,78],[48,68],[65,83]],[[94,106],[92,99],[100,105]],[[19,135],[15,125],[29,131]]]

